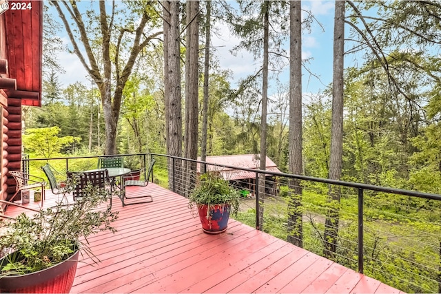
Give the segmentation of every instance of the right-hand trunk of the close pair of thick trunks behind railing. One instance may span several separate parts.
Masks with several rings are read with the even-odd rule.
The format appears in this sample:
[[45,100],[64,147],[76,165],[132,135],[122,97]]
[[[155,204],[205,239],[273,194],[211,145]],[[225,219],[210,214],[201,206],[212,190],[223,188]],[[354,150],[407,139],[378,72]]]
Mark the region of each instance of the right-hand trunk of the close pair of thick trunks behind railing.
[[[185,52],[185,158],[198,157],[199,71],[198,25],[199,1],[187,1],[187,50]],[[192,190],[196,181],[196,162],[187,161],[185,193]]]

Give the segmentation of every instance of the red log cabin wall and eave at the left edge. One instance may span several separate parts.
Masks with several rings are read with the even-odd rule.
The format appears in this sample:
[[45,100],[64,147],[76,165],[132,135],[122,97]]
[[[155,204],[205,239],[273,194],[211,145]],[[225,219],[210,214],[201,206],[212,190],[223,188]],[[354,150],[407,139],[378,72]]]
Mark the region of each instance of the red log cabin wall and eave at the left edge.
[[[22,3],[8,2],[10,7]],[[44,4],[28,4],[24,10],[10,9],[0,15],[1,199],[15,191],[9,171],[21,170],[21,107],[41,106]]]

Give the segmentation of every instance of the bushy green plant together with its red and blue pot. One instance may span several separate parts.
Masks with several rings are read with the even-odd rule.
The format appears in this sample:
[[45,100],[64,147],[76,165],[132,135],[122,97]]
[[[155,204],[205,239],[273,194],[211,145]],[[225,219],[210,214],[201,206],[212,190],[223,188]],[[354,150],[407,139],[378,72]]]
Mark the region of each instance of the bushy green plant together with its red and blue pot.
[[190,193],[189,207],[197,208],[205,233],[223,233],[229,214],[239,210],[240,192],[216,174],[203,174]]

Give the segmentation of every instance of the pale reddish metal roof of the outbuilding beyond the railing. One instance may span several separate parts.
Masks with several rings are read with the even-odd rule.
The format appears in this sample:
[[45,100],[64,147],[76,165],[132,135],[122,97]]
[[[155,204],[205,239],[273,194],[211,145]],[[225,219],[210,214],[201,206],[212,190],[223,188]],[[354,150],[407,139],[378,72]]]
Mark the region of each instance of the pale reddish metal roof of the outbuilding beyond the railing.
[[[257,157],[257,158],[256,158]],[[198,160],[201,160],[198,157]],[[234,167],[244,167],[247,169],[259,169],[260,160],[256,154],[238,154],[223,156],[207,156],[205,162],[216,163],[217,165],[231,165]],[[252,171],[242,171],[240,169],[232,169],[229,167],[218,167],[216,165],[207,165],[208,171],[218,171],[225,180],[241,180],[245,178],[256,178],[256,173]],[[276,164],[267,156],[266,170],[280,172]],[[198,164],[198,171],[201,171]],[[268,175],[269,176],[269,175]]]

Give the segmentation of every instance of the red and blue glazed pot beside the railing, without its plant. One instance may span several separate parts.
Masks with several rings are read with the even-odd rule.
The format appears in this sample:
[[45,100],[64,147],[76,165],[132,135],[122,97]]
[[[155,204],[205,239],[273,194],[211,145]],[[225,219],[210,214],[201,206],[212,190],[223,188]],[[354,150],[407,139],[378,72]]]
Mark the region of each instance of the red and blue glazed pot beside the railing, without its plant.
[[[209,213],[207,210],[209,208]],[[218,234],[227,230],[230,207],[228,204],[198,205],[199,218],[205,233]],[[208,216],[208,218],[207,218]]]

